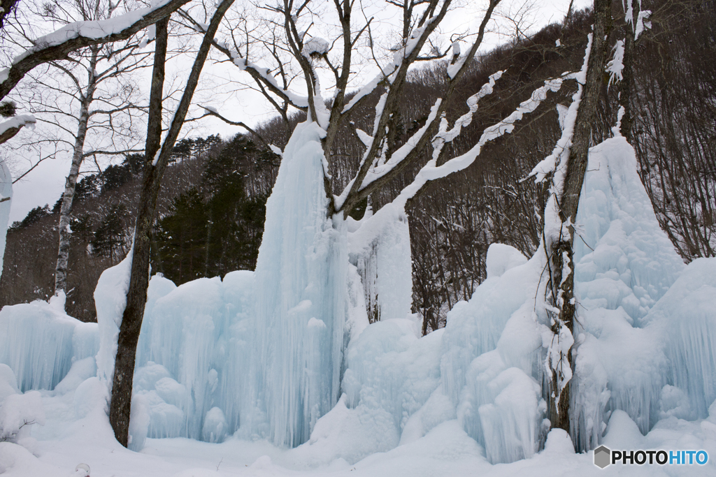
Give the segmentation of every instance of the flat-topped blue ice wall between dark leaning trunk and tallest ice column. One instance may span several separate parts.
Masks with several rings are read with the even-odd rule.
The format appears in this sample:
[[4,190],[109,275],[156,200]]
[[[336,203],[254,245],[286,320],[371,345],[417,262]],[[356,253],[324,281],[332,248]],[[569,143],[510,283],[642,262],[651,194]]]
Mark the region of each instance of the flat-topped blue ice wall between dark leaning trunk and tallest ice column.
[[248,416],[253,272],[176,287],[155,275],[137,344],[135,395],[149,437],[222,441]]

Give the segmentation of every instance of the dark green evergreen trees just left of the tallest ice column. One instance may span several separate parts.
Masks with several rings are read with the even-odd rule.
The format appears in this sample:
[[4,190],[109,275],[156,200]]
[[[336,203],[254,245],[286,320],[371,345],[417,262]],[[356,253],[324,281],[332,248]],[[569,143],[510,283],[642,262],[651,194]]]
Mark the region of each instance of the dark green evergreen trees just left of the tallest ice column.
[[[192,144],[200,150],[215,142],[216,137],[210,136],[194,139]],[[253,270],[261,245],[267,197],[249,197],[244,176],[251,167],[266,167],[274,156],[239,135],[210,157],[200,188],[175,199],[170,215],[158,222],[155,270],[176,283],[223,276],[232,270]]]

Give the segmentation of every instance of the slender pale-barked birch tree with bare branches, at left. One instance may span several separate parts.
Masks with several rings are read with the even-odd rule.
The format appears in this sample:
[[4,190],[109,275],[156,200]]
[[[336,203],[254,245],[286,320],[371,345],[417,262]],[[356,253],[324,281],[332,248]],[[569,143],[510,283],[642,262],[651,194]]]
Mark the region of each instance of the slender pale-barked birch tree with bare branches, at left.
[[[74,21],[109,20],[117,5],[105,0],[63,4],[43,4],[29,12],[34,19],[70,24]],[[17,29],[26,31],[25,29]],[[24,35],[24,40],[29,39]],[[142,152],[138,149],[137,127],[143,114],[140,91],[132,77],[147,66],[150,53],[140,49],[140,38],[132,36],[117,44],[87,46],[69,54],[63,61],[49,62],[28,74],[16,90],[19,102],[53,132],[44,137],[27,137],[35,145],[54,142],[67,150],[72,163],[62,194],[59,215],[59,247],[55,270],[54,295],[64,303],[69,260],[69,223],[79,170],[84,159]],[[41,157],[42,159],[42,157]]]

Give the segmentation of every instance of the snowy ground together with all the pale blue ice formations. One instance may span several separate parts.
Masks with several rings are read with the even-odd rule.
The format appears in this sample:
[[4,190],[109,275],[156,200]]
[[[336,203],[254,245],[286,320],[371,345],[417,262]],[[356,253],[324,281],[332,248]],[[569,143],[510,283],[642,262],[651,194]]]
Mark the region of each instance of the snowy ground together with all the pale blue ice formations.
[[[491,246],[488,278],[421,338],[405,213],[326,220],[320,134],[284,151],[256,272],[151,280],[132,450],[107,418],[127,262],[100,278],[98,324],[0,311],[0,473],[716,475],[716,259],[682,263],[623,138],[591,150],[577,217],[570,438],[546,421],[544,250]],[[601,469],[575,445],[709,459]]]

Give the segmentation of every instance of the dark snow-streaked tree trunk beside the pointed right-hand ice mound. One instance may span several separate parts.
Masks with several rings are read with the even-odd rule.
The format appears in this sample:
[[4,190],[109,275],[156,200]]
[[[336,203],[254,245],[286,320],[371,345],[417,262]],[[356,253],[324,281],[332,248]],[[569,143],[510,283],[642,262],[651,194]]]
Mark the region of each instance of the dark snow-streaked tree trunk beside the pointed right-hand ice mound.
[[[577,112],[572,147],[569,152],[569,163],[564,180],[564,187],[561,194],[560,208],[561,222],[574,224],[579,205],[584,174],[586,173],[589,145],[591,140],[592,123],[596,117],[596,107],[601,92],[601,84],[604,79],[604,60],[609,46],[605,40],[611,29],[611,4],[609,0],[594,0],[594,34],[592,39],[591,53],[587,63],[586,82],[582,92],[579,111]],[[569,225],[569,237],[562,237],[553,242],[550,253],[551,261],[551,285],[557,290],[555,295],[561,297],[562,305],[559,312],[559,320],[553,325],[553,333],[558,334],[561,324],[566,325],[570,333],[574,333],[574,313],[576,303],[574,299],[574,227]],[[565,268],[564,260],[567,260],[566,268],[568,275],[563,279],[562,270]],[[567,352],[567,359],[571,366],[570,347]],[[553,386],[557,384],[553,376]],[[569,383],[563,390],[553,389],[553,395],[559,396],[558,403],[552,403],[552,427],[561,428],[569,432]]]

